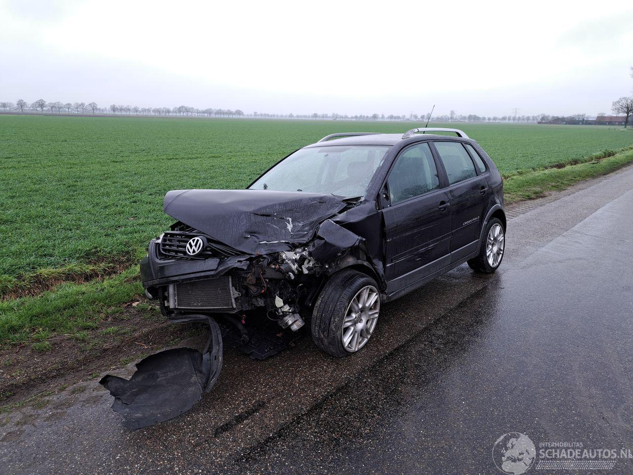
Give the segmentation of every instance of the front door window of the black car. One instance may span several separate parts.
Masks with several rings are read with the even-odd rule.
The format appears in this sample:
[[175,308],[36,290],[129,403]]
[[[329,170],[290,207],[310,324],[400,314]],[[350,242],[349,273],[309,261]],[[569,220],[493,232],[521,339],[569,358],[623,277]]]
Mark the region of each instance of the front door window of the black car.
[[391,169],[387,186],[392,205],[439,188],[429,144],[416,144],[405,149]]

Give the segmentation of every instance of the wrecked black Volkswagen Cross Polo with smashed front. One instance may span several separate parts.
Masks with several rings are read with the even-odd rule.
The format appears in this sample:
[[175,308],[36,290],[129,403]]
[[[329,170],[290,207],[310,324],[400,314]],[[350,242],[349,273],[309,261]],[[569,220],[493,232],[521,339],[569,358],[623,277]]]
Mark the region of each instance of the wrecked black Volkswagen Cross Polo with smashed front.
[[164,210],[177,222],[141,276],[166,317],[220,314],[245,335],[248,313],[291,331],[309,320],[335,357],[367,343],[381,303],[465,262],[494,272],[505,248],[501,176],[456,129],[332,134],[248,189],[170,191]]

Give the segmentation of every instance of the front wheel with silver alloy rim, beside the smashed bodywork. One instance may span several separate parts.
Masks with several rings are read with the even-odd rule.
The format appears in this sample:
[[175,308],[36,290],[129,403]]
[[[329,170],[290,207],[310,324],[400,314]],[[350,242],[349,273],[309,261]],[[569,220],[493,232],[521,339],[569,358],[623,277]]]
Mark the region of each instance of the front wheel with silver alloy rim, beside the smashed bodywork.
[[[368,289],[366,296],[365,289]],[[362,298],[372,301],[372,305],[360,305],[358,308]],[[316,299],[312,314],[312,339],[318,348],[333,357],[351,355],[363,348],[372,336],[379,312],[380,293],[372,277],[356,270],[339,270],[325,282]],[[344,343],[345,338],[347,344]]]

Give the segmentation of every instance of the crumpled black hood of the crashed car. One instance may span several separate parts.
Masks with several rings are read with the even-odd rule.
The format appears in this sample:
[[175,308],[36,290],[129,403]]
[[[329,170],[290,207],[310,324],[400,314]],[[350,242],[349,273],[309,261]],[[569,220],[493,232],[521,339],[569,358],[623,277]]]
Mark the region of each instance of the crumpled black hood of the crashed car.
[[174,190],[165,213],[248,254],[287,251],[347,206],[331,194],[273,190]]

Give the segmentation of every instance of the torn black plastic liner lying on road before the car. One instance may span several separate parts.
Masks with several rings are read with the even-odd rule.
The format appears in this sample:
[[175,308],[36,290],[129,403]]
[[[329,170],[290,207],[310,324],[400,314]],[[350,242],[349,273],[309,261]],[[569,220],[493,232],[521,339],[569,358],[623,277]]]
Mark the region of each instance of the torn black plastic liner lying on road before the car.
[[130,379],[104,376],[100,384],[115,396],[112,409],[123,426],[139,429],[187,412],[215,385],[222,370],[222,333],[203,315],[187,319],[206,322],[209,339],[203,352],[174,348],[154,353],[136,364]]

